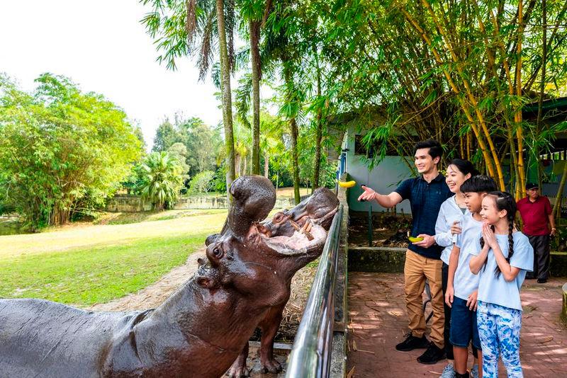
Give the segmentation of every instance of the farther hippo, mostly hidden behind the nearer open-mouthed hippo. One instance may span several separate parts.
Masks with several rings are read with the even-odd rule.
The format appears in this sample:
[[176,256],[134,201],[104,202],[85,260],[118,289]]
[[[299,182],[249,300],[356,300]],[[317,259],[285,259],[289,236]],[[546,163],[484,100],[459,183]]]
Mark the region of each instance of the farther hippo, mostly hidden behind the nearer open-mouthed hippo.
[[[338,206],[339,200],[335,193],[332,193],[327,188],[318,188],[313,192],[313,195],[303,200],[293,209],[278,212],[270,221],[258,224],[257,229],[262,235],[271,237],[271,240],[292,237],[293,234],[297,234],[298,228],[301,233],[310,224],[317,224],[328,231]],[[212,237],[214,236],[209,236],[209,238]],[[276,373],[281,371],[280,363],[274,358],[274,339],[281,323],[283,309],[286,307],[291,294],[292,278],[293,275],[290,275],[286,280],[285,299],[274,304],[266,312],[264,319],[258,323],[258,327],[262,330],[262,340],[260,342],[260,366],[262,372]],[[242,353],[230,367],[228,371],[229,377],[247,377],[249,375],[246,367],[247,356],[248,344],[245,345]]]

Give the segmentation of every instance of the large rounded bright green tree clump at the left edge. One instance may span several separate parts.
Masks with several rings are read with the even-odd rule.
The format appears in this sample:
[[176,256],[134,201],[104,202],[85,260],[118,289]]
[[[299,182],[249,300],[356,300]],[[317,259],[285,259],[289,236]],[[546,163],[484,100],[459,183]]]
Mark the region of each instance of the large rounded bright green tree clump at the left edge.
[[117,105],[42,74],[27,93],[0,75],[0,192],[29,229],[101,205],[142,154]]

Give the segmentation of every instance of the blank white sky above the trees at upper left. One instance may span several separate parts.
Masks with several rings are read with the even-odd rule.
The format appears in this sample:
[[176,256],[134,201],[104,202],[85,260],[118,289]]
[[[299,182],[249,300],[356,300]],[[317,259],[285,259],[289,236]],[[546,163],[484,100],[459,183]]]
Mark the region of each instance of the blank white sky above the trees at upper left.
[[51,72],[101,93],[140,123],[148,149],[164,116],[176,111],[217,125],[223,114],[210,77],[198,82],[188,58],[177,71],[155,61],[140,23],[147,11],[136,0],[0,0],[0,71],[27,91]]

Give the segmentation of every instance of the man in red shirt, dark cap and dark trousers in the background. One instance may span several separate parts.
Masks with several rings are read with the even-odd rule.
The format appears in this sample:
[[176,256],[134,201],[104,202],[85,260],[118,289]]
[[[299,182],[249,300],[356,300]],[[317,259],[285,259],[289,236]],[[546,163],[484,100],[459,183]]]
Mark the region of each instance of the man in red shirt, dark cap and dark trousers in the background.
[[[526,184],[527,197],[517,202],[517,210],[522,216],[522,232],[534,247],[534,273],[526,278],[536,278],[538,283],[547,282],[549,273],[549,236],[555,235],[555,219],[551,214],[551,204],[547,197],[539,195],[536,183]],[[551,225],[549,231],[548,222]]]

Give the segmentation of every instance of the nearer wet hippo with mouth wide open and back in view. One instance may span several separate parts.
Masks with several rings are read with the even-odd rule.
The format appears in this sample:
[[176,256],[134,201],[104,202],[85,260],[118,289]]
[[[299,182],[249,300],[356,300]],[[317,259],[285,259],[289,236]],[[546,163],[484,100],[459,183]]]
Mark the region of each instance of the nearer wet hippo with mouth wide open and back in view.
[[90,312],[0,299],[0,377],[222,376],[257,324],[286,303],[291,277],[320,255],[327,236],[313,224],[311,240],[301,232],[269,238],[257,222],[274,206],[273,185],[245,176],[230,190],[235,207],[223,233],[157,309]]

